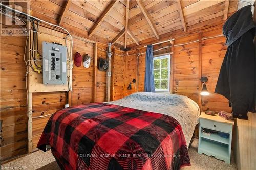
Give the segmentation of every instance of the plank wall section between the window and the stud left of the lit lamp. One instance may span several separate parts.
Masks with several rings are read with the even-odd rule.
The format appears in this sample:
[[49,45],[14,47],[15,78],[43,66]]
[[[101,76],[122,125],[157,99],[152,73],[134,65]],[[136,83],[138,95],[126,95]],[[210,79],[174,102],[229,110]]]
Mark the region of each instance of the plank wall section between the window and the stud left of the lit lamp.
[[198,33],[175,38],[173,93],[188,96],[198,103],[199,43],[194,42],[197,40]]

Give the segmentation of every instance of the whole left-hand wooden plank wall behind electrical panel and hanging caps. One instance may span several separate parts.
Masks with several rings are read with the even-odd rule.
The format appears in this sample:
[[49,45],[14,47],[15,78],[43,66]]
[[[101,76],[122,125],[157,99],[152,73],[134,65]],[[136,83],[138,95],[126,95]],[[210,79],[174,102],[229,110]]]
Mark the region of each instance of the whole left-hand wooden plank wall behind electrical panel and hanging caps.
[[[51,31],[49,31],[51,32]],[[58,33],[55,36],[65,37],[65,34]],[[76,52],[82,56],[89,54],[91,60],[90,68],[76,67],[73,68],[71,106],[91,103],[93,101],[93,64],[94,51],[91,43],[85,42],[81,37],[73,39],[73,57]],[[1,117],[3,120],[3,140],[1,142],[1,160],[6,160],[11,157],[22,155],[28,152],[28,128],[27,128],[27,94],[26,94],[26,65],[23,55],[25,48],[26,37],[3,36],[1,37]],[[106,45],[98,44],[98,48],[106,50]],[[98,49],[98,58],[106,58],[106,52]],[[117,51],[119,55],[124,54],[123,51]],[[123,70],[123,58],[115,57],[114,62],[118,63],[116,75]],[[119,69],[120,68],[120,69]],[[122,98],[122,80],[123,77],[118,77],[115,84],[114,99]],[[96,102],[105,101],[106,90],[106,72],[98,71],[97,69],[97,93]],[[65,107],[67,92],[44,92],[33,93],[32,115],[41,116],[54,113],[55,111]],[[44,129],[47,120],[50,116],[44,118],[33,118],[32,122],[32,147],[36,150],[37,142],[41,132]]]

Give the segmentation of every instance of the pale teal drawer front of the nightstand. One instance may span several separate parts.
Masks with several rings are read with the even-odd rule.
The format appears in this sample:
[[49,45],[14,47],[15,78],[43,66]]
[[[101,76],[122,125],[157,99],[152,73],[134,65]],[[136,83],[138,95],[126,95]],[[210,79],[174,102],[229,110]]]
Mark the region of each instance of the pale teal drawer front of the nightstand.
[[232,125],[200,118],[200,126],[225,133],[232,133]]

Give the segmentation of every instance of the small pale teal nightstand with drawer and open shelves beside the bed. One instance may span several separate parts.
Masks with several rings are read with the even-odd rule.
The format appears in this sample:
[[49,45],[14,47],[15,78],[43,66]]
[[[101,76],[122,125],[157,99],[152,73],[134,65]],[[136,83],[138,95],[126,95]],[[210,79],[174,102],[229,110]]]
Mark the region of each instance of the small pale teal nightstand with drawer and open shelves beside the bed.
[[[210,116],[204,112],[200,115],[198,153],[214,156],[230,164],[232,131],[234,122],[225,120],[219,115]],[[217,133],[206,135],[202,133],[202,128],[224,132],[228,138],[221,137]]]

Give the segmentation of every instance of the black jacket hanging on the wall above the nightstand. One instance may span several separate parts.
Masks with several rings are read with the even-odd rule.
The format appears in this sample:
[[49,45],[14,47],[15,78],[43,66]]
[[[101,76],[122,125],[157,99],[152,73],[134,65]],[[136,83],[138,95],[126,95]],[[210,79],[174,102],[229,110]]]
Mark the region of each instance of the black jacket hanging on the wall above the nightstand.
[[248,119],[247,112],[255,112],[256,105],[255,24],[251,6],[234,13],[224,24],[223,34],[228,48],[215,93],[229,100],[234,117]]

